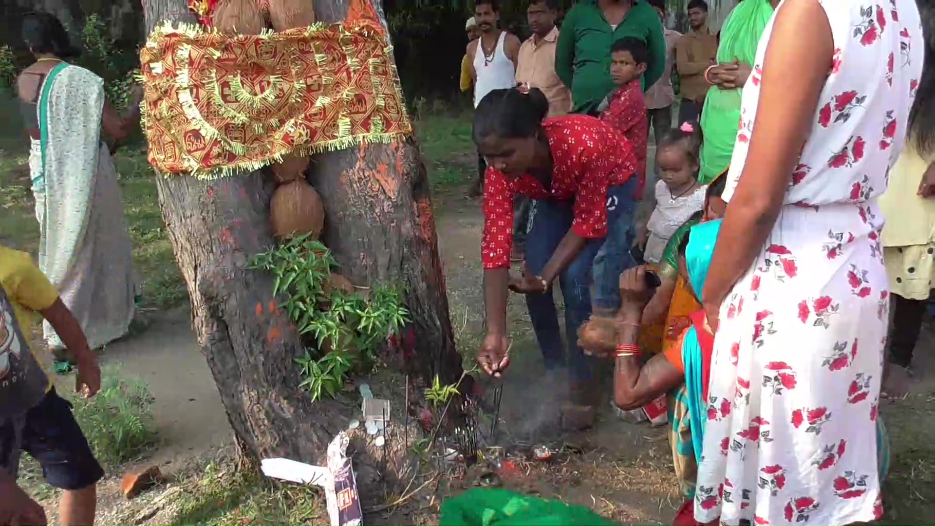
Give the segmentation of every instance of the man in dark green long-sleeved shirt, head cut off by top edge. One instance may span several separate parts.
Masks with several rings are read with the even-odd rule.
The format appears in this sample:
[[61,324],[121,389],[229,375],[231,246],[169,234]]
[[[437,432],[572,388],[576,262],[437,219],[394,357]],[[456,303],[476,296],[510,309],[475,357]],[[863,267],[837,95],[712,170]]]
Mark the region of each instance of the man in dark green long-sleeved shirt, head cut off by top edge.
[[646,91],[666,67],[666,37],[653,7],[645,0],[584,0],[568,10],[555,72],[571,89],[573,112],[597,114],[597,106],[613,91],[611,44],[623,37],[639,38],[649,49],[642,78]]

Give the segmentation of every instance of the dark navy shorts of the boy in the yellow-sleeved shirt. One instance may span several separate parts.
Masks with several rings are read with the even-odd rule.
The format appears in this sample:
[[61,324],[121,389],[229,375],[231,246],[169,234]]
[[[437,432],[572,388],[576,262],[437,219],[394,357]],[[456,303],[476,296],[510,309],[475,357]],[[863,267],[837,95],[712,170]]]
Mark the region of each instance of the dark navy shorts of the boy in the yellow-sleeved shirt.
[[0,469],[15,476],[21,449],[38,460],[54,488],[84,489],[104,476],[71,414],[71,403],[54,388],[24,418],[0,422]]

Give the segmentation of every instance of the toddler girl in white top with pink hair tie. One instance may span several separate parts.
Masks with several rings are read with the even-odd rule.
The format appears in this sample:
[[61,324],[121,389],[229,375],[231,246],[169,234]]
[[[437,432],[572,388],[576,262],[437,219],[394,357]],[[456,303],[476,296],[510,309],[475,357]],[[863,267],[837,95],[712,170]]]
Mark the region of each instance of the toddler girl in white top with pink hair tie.
[[700,147],[701,132],[690,123],[670,129],[656,147],[655,209],[637,235],[646,263],[658,263],[675,230],[704,206],[707,186],[698,183]]

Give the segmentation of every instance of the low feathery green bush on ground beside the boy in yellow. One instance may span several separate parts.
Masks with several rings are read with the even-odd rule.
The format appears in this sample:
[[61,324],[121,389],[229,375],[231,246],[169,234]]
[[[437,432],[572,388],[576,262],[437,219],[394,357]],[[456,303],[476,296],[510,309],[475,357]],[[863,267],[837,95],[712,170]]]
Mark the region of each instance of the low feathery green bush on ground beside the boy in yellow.
[[141,380],[106,368],[94,398],[67,396],[94,456],[103,463],[115,466],[133,460],[156,443],[152,397]]

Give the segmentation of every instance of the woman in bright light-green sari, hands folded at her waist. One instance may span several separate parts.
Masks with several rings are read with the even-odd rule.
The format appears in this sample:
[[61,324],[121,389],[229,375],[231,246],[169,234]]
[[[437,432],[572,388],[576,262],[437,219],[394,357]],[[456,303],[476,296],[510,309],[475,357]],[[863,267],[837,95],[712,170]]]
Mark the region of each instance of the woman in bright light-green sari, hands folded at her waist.
[[718,64],[705,73],[712,89],[701,112],[704,143],[698,183],[711,183],[730,164],[741,122],[743,85],[750,77],[756,44],[778,5],[779,0],[744,0],[724,22],[717,48]]

